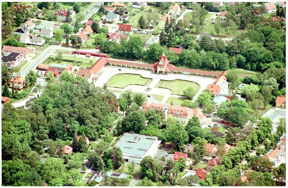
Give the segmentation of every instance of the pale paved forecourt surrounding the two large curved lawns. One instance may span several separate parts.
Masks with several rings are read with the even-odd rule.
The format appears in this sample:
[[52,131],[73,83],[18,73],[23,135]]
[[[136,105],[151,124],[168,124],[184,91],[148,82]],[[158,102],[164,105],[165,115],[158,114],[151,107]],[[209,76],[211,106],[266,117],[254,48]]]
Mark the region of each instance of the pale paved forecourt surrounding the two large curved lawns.
[[[198,93],[195,95],[195,97],[193,97],[193,101],[195,101],[197,99],[198,95],[202,92],[202,90],[206,89],[208,84],[211,84],[215,81],[215,79],[208,78],[208,77],[175,75],[175,74],[160,75],[160,74],[151,73],[151,71],[129,69],[129,68],[124,68],[124,67],[121,68],[122,71],[119,71],[118,69],[119,69],[119,67],[110,67],[110,66],[105,67],[103,73],[101,74],[101,76],[97,79],[97,81],[94,84],[98,87],[103,87],[103,85],[105,83],[107,83],[107,81],[114,75],[123,74],[123,73],[139,74],[142,77],[153,79],[149,86],[128,85],[124,89],[119,89],[119,90],[126,91],[127,89],[132,89],[133,92],[141,92],[141,93],[145,93],[147,95],[155,94],[155,95],[165,95],[165,96],[170,97],[170,96],[173,96],[173,95],[171,95],[171,90],[155,87],[155,85],[158,83],[158,81],[160,79],[164,79],[164,80],[175,80],[175,79],[187,80],[187,81],[196,82],[200,86]],[[150,87],[152,90],[146,92],[144,89],[146,89],[147,87]],[[118,88],[117,88],[117,90],[118,90]],[[162,102],[163,101],[164,101],[164,99],[162,100]]]

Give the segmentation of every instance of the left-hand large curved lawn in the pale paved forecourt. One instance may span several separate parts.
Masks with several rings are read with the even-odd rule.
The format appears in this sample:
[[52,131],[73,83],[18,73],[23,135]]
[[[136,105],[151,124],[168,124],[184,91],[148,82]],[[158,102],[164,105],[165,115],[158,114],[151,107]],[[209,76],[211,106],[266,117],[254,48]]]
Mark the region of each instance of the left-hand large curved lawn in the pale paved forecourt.
[[127,85],[149,85],[151,79],[142,78],[140,75],[118,74],[111,77],[106,83],[108,87],[124,88]]

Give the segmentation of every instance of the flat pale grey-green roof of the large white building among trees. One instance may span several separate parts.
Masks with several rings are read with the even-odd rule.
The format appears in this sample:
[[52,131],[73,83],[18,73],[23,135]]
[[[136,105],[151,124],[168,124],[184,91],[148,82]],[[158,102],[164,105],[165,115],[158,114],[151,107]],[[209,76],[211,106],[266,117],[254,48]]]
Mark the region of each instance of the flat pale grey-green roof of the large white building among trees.
[[123,153],[144,155],[156,139],[156,136],[125,132],[115,147],[119,147]]

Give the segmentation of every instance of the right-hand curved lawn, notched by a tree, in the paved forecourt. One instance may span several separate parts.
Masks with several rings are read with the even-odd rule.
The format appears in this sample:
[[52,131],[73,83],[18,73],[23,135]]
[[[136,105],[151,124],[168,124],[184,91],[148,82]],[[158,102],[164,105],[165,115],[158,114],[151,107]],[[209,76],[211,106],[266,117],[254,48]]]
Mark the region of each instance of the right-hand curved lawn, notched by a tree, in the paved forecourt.
[[196,93],[199,91],[200,87],[195,82],[185,81],[185,80],[173,80],[173,81],[165,81],[160,80],[156,87],[170,89],[173,95],[183,95],[183,91],[187,87],[192,87],[195,89]]

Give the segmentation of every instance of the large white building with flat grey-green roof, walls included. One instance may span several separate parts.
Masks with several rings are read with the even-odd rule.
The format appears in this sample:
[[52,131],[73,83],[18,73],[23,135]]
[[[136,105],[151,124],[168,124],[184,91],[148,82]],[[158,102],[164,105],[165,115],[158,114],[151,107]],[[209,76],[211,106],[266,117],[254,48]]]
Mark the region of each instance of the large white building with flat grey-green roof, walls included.
[[126,162],[140,164],[145,156],[154,156],[160,143],[161,140],[156,136],[125,132],[114,147],[121,149]]

